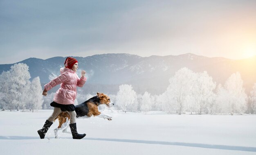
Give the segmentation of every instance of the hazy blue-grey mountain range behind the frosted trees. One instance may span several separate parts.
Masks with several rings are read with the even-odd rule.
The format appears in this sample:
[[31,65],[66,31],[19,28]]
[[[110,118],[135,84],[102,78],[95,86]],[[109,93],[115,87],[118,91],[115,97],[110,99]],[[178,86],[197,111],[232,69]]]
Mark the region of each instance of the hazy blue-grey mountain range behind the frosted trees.
[[[231,60],[222,57],[204,57],[191,53],[184,55],[140,57],[130,54],[103,54],[90,57],[75,57],[81,69],[87,72],[86,92],[106,92],[114,94],[120,84],[131,84],[137,93],[148,91],[160,94],[169,85],[168,79],[177,70],[187,67],[194,72],[206,70],[213,81],[225,83],[234,72],[240,72],[244,80],[246,91],[252,89],[256,83],[256,57],[242,60]],[[53,57],[46,60],[29,58],[17,63],[29,66],[31,78],[40,77],[42,85],[49,82],[49,77],[59,75],[59,69],[64,66],[64,57]],[[0,72],[7,71],[13,64],[0,65]]]

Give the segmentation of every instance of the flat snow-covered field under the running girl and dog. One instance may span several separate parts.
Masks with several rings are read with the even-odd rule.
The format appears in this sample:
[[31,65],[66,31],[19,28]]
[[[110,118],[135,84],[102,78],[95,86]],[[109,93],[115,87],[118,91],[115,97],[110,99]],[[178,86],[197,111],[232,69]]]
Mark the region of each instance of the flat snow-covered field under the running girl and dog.
[[1,155],[256,155],[256,115],[176,115],[162,112],[123,113],[104,111],[101,118],[77,120],[73,140],[60,133],[54,122],[41,140],[41,129],[52,110],[0,111]]

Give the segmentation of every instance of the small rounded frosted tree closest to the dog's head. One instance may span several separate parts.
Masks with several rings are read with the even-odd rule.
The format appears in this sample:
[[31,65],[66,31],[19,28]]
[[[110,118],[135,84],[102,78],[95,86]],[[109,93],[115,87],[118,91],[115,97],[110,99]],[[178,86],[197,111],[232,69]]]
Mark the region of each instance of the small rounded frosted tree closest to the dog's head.
[[123,111],[130,110],[127,109],[128,106],[134,105],[136,103],[137,95],[134,90],[132,90],[131,85],[120,85],[119,91],[117,92],[116,104]]

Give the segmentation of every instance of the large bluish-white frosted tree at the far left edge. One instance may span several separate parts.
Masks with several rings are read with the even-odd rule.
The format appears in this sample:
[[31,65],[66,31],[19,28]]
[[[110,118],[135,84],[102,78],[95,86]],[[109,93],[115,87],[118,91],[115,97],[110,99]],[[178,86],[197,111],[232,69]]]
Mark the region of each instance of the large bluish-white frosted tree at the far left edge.
[[2,100],[8,109],[17,109],[25,106],[27,91],[29,89],[29,67],[24,63],[11,66],[11,70],[3,72],[1,76]]

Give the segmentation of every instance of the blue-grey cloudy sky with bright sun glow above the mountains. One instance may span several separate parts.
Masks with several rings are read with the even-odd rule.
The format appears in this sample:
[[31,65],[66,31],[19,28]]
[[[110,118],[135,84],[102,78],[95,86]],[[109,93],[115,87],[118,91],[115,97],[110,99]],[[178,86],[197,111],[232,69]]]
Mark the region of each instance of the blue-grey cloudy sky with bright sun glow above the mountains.
[[256,0],[0,0],[0,64],[30,57],[256,55]]

